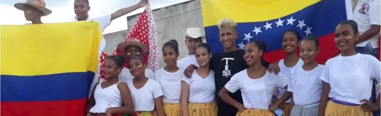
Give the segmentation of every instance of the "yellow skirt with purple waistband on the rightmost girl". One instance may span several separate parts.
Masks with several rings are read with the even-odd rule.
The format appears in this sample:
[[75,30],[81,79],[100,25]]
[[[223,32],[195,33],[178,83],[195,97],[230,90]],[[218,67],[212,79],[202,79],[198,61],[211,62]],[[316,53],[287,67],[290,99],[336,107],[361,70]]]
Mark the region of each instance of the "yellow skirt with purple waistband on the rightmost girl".
[[373,116],[373,113],[362,110],[361,106],[346,106],[328,101],[324,116]]

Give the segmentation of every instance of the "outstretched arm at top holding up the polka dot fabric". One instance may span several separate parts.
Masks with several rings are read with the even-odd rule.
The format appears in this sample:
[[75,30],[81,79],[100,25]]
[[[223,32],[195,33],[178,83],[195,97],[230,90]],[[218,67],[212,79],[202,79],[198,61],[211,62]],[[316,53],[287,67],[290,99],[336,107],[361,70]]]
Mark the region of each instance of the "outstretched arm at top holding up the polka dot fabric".
[[127,8],[122,8],[122,9],[116,11],[115,13],[111,14],[111,21],[116,19],[116,18],[119,18],[119,17],[121,17],[123,15],[126,15],[128,13],[131,13],[134,10],[142,8],[142,7],[146,6],[147,4],[148,4],[148,0],[140,0],[139,3],[137,3],[137,4],[133,5],[133,6],[130,6],[130,7],[127,7]]

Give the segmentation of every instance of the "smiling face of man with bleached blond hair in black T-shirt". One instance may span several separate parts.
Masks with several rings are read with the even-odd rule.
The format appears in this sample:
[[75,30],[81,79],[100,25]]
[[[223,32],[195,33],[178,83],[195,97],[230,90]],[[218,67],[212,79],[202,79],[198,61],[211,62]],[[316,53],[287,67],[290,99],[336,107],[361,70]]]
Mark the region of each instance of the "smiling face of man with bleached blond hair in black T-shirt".
[[234,27],[221,27],[219,30],[219,42],[224,48],[235,47],[235,40],[238,38],[238,32]]

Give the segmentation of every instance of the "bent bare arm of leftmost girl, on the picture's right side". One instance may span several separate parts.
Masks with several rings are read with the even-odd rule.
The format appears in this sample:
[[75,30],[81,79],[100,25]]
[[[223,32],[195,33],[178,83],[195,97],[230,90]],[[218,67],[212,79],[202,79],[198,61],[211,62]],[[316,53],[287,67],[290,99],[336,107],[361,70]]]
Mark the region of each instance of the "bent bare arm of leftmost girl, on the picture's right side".
[[135,110],[130,89],[128,89],[128,86],[124,82],[118,83],[118,89],[124,105],[120,107],[108,108],[106,114],[133,114]]

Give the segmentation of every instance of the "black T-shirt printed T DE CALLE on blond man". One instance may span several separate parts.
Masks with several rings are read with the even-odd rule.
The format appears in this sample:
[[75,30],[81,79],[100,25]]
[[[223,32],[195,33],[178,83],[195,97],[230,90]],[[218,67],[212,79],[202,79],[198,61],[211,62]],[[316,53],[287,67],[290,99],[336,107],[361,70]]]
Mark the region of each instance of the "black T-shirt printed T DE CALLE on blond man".
[[[237,108],[224,102],[219,96],[218,92],[230,81],[230,78],[244,69],[249,68],[246,61],[243,59],[244,50],[239,49],[234,52],[216,53],[210,60],[210,68],[215,71],[216,83],[216,102],[218,105],[218,116],[235,116]],[[262,63],[266,68],[267,62]],[[242,103],[241,91],[231,93],[230,96]]]

